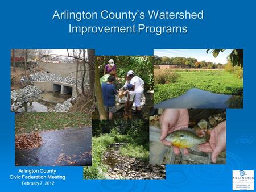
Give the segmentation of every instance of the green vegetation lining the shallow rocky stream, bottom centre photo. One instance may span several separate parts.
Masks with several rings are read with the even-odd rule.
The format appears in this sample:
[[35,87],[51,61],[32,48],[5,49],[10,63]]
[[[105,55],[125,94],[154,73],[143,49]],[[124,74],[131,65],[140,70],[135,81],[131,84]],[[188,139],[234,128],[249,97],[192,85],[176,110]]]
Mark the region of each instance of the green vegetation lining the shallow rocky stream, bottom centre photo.
[[92,137],[92,166],[84,167],[84,179],[104,179],[104,173],[108,167],[103,162],[103,155],[108,150],[110,144],[113,143],[128,143],[123,145],[119,152],[123,156],[139,158],[148,162],[148,144],[146,146],[134,143],[134,140],[129,135],[120,135],[115,130],[109,134],[105,133],[100,137]]

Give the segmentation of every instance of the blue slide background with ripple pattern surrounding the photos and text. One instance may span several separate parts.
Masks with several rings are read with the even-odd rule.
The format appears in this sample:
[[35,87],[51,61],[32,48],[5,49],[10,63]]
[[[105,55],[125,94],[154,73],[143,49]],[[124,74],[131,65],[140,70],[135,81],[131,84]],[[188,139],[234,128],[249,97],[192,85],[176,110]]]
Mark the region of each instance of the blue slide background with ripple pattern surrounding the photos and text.
[[[1,189],[3,191],[231,191],[232,170],[255,169],[254,1],[3,1],[1,3]],[[187,25],[187,34],[68,34],[67,21],[52,21],[57,10],[204,10],[204,20],[143,20],[148,25]],[[80,23],[82,24],[82,23]],[[132,24],[88,20],[85,25]],[[135,22],[138,24],[138,22]],[[152,55],[154,48],[243,48],[244,108],[227,110],[226,165],[167,165],[166,180],[82,180],[82,168],[56,168],[66,181],[55,186],[21,186],[9,180],[14,166],[14,114],[10,113],[10,49],[95,48],[97,55]]]

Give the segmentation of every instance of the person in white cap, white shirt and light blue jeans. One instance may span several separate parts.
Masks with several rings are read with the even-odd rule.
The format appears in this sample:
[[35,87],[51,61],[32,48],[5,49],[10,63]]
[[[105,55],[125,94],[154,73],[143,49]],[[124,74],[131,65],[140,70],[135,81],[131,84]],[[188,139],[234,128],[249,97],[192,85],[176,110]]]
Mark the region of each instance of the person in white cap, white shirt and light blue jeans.
[[128,84],[133,85],[136,113],[138,114],[139,118],[142,118],[141,97],[144,91],[144,81],[140,77],[135,76],[133,70],[129,70],[126,75],[126,84],[123,86],[123,88],[127,89]]

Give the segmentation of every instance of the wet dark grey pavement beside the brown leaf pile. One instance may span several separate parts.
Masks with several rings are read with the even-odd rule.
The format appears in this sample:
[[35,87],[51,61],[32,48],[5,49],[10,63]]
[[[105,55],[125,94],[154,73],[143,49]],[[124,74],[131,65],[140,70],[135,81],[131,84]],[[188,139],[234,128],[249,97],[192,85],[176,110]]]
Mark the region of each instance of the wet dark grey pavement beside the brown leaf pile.
[[15,149],[16,166],[84,166],[92,164],[92,128],[67,128],[40,133],[37,149]]

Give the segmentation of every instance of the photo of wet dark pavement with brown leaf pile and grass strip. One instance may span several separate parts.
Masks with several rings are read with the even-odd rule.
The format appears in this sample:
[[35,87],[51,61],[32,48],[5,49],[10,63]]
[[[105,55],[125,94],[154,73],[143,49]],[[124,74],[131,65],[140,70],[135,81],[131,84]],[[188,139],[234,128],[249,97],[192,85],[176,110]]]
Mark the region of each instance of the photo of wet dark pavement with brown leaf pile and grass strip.
[[23,112],[15,115],[15,166],[90,166],[91,116]]

